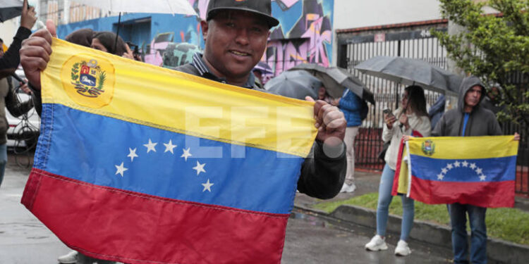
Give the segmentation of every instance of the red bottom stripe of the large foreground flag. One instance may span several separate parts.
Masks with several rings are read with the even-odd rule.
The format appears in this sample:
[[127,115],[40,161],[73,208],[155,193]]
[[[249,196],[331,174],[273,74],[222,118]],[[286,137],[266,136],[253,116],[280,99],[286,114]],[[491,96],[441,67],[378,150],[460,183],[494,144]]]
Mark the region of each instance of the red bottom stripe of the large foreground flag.
[[100,187],[37,169],[22,201],[72,249],[130,264],[280,263],[288,220]]

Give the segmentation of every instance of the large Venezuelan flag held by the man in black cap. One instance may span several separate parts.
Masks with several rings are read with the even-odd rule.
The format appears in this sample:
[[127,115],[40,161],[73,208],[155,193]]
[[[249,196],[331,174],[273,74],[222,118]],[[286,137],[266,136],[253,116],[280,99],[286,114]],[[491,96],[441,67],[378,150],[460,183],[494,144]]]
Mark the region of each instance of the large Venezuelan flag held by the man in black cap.
[[280,263],[312,103],[53,40],[22,203],[123,263]]

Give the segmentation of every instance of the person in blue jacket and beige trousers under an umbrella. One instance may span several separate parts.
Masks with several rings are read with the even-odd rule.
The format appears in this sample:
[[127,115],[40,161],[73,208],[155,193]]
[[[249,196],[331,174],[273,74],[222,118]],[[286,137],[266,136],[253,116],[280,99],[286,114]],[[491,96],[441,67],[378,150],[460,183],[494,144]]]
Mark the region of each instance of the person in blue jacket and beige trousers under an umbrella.
[[347,154],[347,172],[346,181],[343,182],[340,192],[353,192],[356,189],[355,180],[355,137],[358,134],[358,127],[362,125],[362,118],[360,111],[362,109],[362,99],[349,89],[343,91],[340,99],[334,101],[334,105],[338,106],[343,112],[347,120],[346,136],[343,142],[346,144]]

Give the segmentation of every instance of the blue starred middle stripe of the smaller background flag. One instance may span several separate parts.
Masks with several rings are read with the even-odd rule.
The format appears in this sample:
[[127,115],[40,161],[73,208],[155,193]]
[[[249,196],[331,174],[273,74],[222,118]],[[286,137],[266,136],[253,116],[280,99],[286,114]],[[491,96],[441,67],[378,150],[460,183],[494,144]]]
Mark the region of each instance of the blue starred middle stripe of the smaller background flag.
[[444,160],[410,155],[410,158],[412,175],[422,180],[502,182],[516,177],[516,156]]

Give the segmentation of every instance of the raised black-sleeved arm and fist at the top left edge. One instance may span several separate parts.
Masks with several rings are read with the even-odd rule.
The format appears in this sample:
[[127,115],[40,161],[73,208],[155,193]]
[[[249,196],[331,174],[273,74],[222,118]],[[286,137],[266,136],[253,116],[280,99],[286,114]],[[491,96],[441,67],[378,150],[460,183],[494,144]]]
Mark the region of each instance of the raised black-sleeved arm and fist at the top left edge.
[[0,58],[0,78],[15,73],[16,68],[18,68],[18,64],[20,64],[18,51],[20,51],[22,41],[30,37],[31,28],[35,25],[35,21],[37,21],[36,14],[35,8],[32,6],[28,7],[28,0],[24,0],[20,27],[18,27],[15,37],[13,37],[13,42],[11,42],[6,54]]

